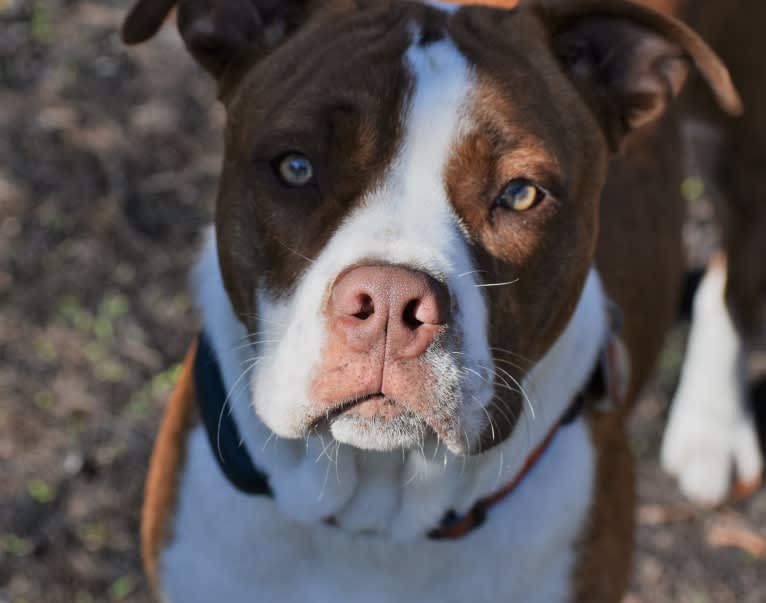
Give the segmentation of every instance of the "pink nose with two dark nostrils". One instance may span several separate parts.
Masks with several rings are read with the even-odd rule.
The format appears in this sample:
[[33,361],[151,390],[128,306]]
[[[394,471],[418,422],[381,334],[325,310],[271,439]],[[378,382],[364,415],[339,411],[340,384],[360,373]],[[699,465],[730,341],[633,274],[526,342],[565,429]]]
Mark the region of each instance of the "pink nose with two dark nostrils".
[[360,266],[335,282],[328,304],[331,331],[349,351],[385,344],[386,358],[417,358],[449,319],[445,285],[399,266]]

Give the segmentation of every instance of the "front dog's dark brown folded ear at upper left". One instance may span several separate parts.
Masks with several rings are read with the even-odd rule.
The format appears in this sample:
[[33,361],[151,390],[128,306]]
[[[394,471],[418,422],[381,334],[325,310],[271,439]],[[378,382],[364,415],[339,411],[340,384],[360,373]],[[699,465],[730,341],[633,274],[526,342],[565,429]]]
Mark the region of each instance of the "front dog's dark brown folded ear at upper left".
[[178,31],[216,79],[244,56],[279,45],[305,20],[311,0],[138,0],[122,25],[126,44],[151,38],[178,5]]

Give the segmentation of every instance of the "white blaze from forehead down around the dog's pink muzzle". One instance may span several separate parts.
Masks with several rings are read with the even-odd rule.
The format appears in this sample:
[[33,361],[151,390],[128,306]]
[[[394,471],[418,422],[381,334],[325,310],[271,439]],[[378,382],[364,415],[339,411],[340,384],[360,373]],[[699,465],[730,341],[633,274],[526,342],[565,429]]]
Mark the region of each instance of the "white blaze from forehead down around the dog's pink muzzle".
[[[413,41],[419,37],[413,32]],[[404,62],[412,80],[403,108],[404,135],[382,183],[340,225],[291,299],[277,302],[259,292],[259,315],[268,319],[259,328],[268,331],[264,339],[277,343],[265,346],[269,360],[253,371],[254,401],[258,414],[282,436],[300,435],[310,414],[308,385],[325,339],[322,305],[327,291],[343,270],[370,260],[421,269],[446,281],[455,302],[454,331],[463,337],[459,364],[477,373],[463,377],[463,394],[473,408],[461,428],[478,437],[483,427],[485,414],[472,401],[484,406],[492,393],[491,380],[481,377],[491,374],[492,367],[486,308],[444,181],[450,154],[470,127],[475,81],[465,57],[448,39],[426,46],[413,43]],[[445,391],[450,379],[456,391],[457,364],[441,380]]]

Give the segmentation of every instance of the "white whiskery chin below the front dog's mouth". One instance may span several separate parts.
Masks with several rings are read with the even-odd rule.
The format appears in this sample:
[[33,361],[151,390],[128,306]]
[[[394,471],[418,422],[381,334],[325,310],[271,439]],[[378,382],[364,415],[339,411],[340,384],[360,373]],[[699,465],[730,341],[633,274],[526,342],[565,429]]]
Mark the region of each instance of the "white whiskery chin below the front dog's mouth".
[[380,452],[422,447],[434,436],[423,419],[410,413],[390,419],[340,416],[330,424],[330,433],[343,444]]

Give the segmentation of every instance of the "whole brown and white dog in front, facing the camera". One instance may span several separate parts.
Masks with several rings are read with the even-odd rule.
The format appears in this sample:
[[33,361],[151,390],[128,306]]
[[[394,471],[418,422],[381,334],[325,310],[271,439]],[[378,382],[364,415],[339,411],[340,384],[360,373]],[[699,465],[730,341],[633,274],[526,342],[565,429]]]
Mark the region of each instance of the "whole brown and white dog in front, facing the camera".
[[[175,3],[139,1],[126,41]],[[163,599],[619,600],[624,421],[682,272],[670,105],[691,65],[739,112],[723,64],[623,0],[178,23],[228,119],[204,335],[147,482]]]

